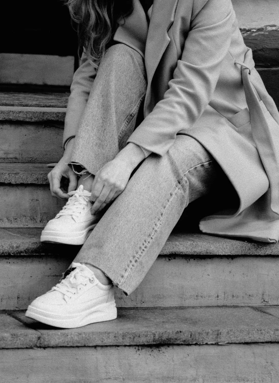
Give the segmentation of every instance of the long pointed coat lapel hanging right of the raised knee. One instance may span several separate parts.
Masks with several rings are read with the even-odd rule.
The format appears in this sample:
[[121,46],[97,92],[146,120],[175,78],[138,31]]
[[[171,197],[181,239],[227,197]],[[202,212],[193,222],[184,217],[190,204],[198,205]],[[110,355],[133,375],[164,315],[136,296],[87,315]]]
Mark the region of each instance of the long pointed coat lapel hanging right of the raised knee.
[[154,0],[145,49],[149,84],[151,84],[156,67],[170,42],[168,30],[173,24],[177,3],[178,0]]

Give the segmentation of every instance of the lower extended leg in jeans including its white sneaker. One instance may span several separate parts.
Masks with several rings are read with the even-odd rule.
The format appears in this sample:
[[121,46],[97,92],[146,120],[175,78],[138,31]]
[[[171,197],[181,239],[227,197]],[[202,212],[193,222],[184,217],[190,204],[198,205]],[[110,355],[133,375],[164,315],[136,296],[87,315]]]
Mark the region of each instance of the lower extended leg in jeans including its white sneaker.
[[165,156],[151,155],[138,168],[86,240],[66,278],[33,301],[26,315],[65,328],[116,318],[111,285],[100,283],[82,263],[98,267],[130,294],[188,203],[222,188],[225,179],[197,141],[178,136]]

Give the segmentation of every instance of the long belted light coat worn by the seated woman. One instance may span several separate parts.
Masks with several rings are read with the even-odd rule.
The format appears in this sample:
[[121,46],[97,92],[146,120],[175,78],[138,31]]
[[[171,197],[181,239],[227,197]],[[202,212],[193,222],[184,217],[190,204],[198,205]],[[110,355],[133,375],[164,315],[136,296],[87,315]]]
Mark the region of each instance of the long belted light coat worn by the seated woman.
[[[145,57],[144,121],[133,142],[164,155],[177,134],[198,140],[239,196],[237,211],[205,217],[205,233],[279,239],[279,114],[254,69],[230,0],[154,0],[150,25],[139,0],[114,40]],[[74,75],[64,141],[75,135],[95,71]]]

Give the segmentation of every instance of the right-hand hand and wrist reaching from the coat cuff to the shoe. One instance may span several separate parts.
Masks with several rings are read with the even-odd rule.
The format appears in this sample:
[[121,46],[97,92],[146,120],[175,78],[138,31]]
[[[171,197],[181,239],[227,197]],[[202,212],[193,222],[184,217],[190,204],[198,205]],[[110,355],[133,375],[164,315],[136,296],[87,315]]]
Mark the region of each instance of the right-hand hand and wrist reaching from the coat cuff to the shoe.
[[143,150],[129,143],[97,172],[91,188],[90,199],[94,201],[91,214],[101,211],[125,190],[132,171],[144,158]]

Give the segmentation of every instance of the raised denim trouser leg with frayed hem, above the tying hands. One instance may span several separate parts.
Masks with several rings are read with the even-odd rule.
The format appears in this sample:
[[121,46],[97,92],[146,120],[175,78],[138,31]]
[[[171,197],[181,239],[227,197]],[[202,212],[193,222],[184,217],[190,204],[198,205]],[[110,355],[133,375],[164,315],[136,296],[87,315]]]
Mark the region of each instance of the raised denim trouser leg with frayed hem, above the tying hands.
[[144,60],[125,44],[108,49],[92,85],[73,148],[72,162],[96,172],[125,145],[145,97]]

